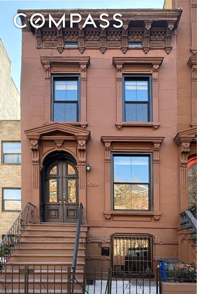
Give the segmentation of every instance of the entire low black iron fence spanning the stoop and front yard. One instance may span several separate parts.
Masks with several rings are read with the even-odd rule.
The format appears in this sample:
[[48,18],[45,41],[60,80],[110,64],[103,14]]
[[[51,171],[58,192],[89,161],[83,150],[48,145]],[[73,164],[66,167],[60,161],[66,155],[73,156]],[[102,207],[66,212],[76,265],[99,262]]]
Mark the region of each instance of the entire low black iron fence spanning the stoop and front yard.
[[0,274],[0,293],[17,294],[161,294],[159,269],[146,278],[125,273],[121,278],[113,277],[112,267],[108,271],[85,269],[74,272],[71,266],[63,265],[9,265]]

